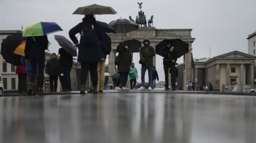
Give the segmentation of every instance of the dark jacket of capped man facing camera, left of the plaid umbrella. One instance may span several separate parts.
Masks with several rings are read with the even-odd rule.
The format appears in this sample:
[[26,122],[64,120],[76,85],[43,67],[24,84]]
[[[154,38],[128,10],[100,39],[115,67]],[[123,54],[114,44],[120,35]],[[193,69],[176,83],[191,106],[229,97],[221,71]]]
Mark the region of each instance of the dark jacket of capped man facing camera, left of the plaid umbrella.
[[57,63],[58,63],[59,59],[52,59],[52,57],[50,57],[50,59],[47,61],[46,63],[46,73],[49,73],[49,76],[57,76],[58,75],[58,71],[57,71]]

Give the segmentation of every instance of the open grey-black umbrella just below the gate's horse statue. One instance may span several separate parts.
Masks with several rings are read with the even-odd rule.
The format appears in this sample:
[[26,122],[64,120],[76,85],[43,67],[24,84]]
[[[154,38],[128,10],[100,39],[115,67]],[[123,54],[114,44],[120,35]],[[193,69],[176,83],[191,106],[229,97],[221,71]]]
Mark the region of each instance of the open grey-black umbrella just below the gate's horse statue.
[[128,19],[113,20],[109,24],[114,27],[115,33],[122,33],[122,39],[123,39],[123,32],[128,33],[134,30],[138,30],[139,28],[138,24]]

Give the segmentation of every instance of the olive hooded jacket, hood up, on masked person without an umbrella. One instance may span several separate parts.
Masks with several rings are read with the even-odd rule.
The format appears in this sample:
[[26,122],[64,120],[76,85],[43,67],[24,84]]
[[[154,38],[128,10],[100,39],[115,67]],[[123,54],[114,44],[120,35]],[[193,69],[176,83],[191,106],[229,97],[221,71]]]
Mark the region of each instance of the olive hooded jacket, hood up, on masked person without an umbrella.
[[[144,44],[144,41],[148,40],[148,45]],[[150,41],[148,38],[143,40],[144,46],[140,48],[140,61],[142,66],[152,67],[153,66],[153,57],[155,56],[154,47],[150,46]]]

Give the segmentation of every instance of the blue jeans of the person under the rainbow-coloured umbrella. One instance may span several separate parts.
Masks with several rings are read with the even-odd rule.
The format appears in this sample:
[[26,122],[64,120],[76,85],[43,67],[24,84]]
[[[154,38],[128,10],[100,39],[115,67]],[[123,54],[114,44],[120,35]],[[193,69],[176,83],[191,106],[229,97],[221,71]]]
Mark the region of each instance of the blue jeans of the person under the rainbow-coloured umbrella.
[[44,69],[45,69],[45,57],[42,58],[29,58],[29,62],[31,63],[32,72],[30,75],[30,82],[35,81],[35,76],[37,74],[37,66],[38,66],[38,81],[37,87],[44,88]]

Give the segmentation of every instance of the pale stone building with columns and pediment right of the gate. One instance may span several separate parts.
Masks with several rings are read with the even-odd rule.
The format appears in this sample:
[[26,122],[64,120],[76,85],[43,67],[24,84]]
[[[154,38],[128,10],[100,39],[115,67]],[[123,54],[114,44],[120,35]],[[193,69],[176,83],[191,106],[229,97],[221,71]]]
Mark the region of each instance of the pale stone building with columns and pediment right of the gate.
[[236,81],[238,85],[254,84],[254,61],[256,57],[240,51],[233,51],[211,59],[193,59],[193,77],[198,78],[202,70],[199,85],[212,83],[214,90],[224,90],[223,85]]

